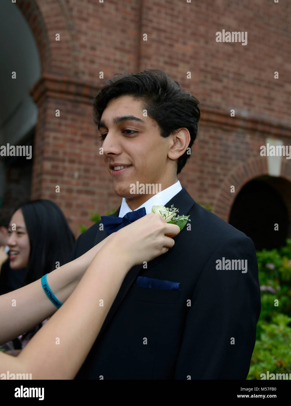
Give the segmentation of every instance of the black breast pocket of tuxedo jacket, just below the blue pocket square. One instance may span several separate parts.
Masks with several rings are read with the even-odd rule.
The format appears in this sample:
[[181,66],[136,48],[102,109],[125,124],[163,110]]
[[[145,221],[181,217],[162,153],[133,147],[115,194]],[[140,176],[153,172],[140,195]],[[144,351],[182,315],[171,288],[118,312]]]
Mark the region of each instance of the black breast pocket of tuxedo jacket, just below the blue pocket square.
[[176,304],[178,302],[180,289],[156,289],[133,285],[131,299],[139,302]]

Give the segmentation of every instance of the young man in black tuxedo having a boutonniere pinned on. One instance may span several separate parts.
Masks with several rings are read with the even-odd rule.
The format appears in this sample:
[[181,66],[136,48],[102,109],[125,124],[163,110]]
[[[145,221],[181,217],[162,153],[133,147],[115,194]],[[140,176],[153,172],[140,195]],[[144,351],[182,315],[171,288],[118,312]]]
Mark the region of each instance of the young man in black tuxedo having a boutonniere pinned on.
[[[161,69],[115,77],[94,99],[105,164],[122,197],[109,220],[173,204],[191,221],[166,254],[128,272],[76,379],[248,375],[261,311],[255,246],[196,203],[177,178],[197,136],[198,105]],[[137,181],[162,191],[132,194]],[[103,220],[94,224],[77,239],[71,260],[107,235]]]

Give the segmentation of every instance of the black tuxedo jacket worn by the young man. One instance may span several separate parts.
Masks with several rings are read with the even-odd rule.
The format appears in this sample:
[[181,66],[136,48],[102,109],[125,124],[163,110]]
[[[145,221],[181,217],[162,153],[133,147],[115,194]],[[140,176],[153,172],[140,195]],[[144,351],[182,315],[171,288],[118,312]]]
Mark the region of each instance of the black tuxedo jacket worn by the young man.
[[[185,188],[171,204],[190,214],[191,229],[147,269],[129,270],[75,379],[246,379],[261,311],[255,246]],[[107,237],[100,222],[77,238],[70,261]],[[247,272],[217,270],[223,257],[247,260]],[[137,276],[180,289],[138,286]]]

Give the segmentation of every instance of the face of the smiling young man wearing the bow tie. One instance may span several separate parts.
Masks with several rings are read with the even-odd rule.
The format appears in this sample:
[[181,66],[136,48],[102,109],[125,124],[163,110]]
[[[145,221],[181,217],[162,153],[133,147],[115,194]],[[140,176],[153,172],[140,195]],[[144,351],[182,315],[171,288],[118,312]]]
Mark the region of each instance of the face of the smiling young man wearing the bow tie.
[[[140,121],[113,121],[125,116],[134,116]],[[137,181],[139,184],[162,184],[162,190],[173,184],[176,166],[168,158],[171,136],[161,137],[158,123],[150,117],[143,117],[139,100],[128,95],[111,99],[102,114],[99,131],[104,138],[105,164],[113,178],[116,194],[140,199],[130,193],[130,185]],[[127,168],[114,170],[114,166]]]

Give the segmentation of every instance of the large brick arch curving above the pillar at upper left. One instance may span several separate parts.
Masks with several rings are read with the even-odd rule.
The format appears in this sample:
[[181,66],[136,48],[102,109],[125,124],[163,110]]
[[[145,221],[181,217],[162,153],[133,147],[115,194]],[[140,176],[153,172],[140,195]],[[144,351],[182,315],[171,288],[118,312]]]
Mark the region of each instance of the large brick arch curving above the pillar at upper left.
[[[74,76],[77,35],[66,3],[63,0],[17,0],[17,6],[39,48],[42,73]],[[56,33],[60,34],[59,42]]]

